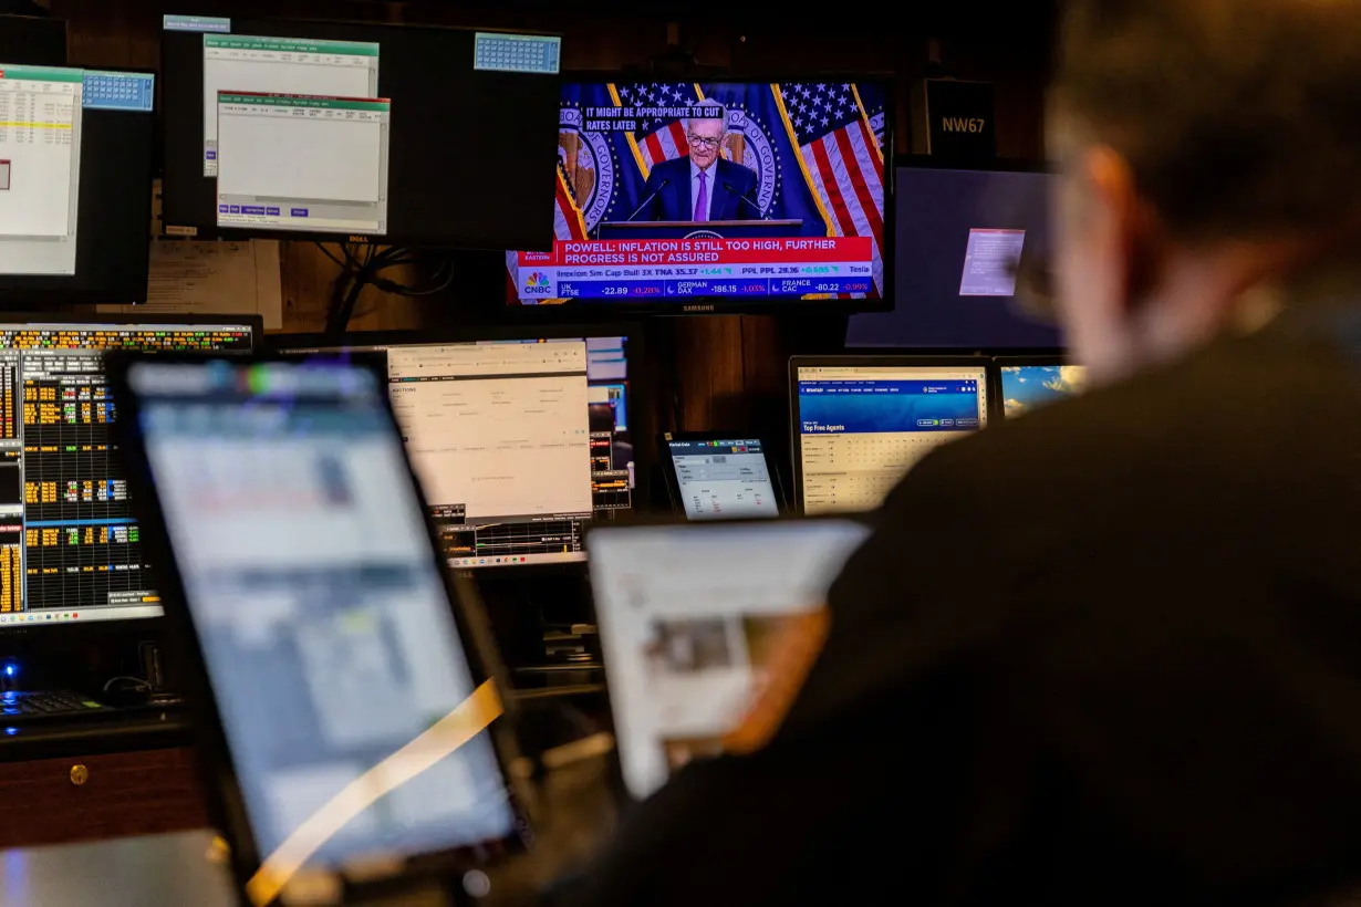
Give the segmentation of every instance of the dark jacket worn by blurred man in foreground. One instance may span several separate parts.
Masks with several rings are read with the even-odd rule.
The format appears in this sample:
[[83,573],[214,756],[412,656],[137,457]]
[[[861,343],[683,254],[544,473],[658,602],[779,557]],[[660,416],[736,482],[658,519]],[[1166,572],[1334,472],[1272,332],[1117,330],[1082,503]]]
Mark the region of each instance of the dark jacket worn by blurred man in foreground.
[[1361,332],[1349,355],[1309,320],[923,460],[770,745],[682,770],[580,903],[1244,907],[1361,880]]

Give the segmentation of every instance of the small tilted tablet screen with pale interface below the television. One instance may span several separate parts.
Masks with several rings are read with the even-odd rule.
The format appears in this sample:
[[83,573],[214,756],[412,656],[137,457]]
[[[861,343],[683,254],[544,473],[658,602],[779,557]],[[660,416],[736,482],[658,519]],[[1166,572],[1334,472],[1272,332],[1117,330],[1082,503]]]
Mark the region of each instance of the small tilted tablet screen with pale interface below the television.
[[686,519],[780,515],[765,450],[754,438],[666,441]]

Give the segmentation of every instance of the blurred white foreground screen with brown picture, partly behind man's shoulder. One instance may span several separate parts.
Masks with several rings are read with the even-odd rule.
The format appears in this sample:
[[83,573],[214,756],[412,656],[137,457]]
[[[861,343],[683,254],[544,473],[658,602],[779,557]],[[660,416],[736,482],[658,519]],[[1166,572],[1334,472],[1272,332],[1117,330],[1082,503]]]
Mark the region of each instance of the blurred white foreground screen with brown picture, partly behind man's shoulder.
[[851,519],[603,526],[591,587],[619,766],[642,800],[725,737],[868,529]]

